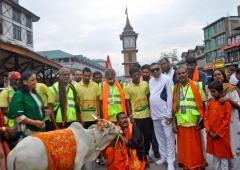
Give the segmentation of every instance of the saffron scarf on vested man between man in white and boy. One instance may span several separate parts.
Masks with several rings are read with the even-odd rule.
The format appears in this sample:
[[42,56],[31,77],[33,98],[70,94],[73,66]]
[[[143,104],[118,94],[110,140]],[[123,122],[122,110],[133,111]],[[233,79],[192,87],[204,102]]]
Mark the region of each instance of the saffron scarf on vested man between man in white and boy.
[[[188,80],[189,86],[191,87],[192,91],[193,91],[193,95],[194,95],[194,100],[197,106],[197,109],[200,113],[200,116],[204,115],[204,106],[203,106],[203,101],[201,98],[201,95],[199,93],[198,88],[196,87],[194,81],[192,81],[191,79]],[[177,107],[180,105],[180,88],[179,88],[179,84],[177,83],[174,86],[174,90],[173,90],[173,105],[172,105],[172,111],[175,114],[177,111]]]

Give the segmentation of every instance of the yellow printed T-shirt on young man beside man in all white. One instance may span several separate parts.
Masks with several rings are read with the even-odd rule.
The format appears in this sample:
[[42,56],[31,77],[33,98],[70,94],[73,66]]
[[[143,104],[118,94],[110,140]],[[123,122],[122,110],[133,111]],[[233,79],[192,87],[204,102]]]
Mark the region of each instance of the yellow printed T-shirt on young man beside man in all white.
[[147,100],[149,94],[148,83],[140,81],[138,85],[130,83],[124,88],[125,99],[131,101],[132,115],[135,119],[150,117],[150,109]]

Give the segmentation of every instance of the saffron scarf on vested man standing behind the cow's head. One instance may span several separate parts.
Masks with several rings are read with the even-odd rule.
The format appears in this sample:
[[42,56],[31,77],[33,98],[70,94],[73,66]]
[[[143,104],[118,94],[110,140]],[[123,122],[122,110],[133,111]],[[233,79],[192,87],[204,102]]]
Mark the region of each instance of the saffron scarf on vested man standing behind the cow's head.
[[[122,112],[126,113],[126,105],[125,105],[125,97],[124,97],[124,93],[123,90],[121,88],[120,83],[115,80],[115,85],[118,89],[118,92],[120,94],[120,101],[121,101],[121,106],[122,106]],[[109,97],[109,90],[108,90],[108,81],[106,80],[103,83],[103,87],[102,87],[102,110],[103,110],[103,119],[108,120],[108,97]]]

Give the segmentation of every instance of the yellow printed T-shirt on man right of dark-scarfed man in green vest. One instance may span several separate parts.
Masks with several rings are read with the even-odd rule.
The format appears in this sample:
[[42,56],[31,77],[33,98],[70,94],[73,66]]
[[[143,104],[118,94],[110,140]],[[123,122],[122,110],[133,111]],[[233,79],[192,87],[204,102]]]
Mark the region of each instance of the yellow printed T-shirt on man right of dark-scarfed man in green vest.
[[98,116],[97,98],[100,96],[98,84],[90,81],[88,85],[85,85],[83,81],[80,81],[75,87],[79,97],[82,121],[94,121],[92,115]]

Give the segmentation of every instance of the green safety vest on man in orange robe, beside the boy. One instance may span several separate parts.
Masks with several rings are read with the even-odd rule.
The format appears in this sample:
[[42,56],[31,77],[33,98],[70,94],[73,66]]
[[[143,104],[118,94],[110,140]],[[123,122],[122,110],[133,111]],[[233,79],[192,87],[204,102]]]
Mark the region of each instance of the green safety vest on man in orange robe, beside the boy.
[[[202,90],[203,85],[201,82],[195,82],[197,88],[199,90]],[[181,90],[181,88],[180,88]],[[180,92],[178,92],[180,93]],[[195,100],[194,100],[194,94],[190,87],[188,86],[188,91],[186,94],[186,90],[184,91],[185,99],[183,97],[180,97],[180,106],[177,106],[177,112],[176,112],[176,118],[177,118],[177,124],[178,125],[196,125],[198,116],[200,115],[198,108],[196,106]],[[181,106],[184,106],[186,109],[185,113],[181,112]]]

